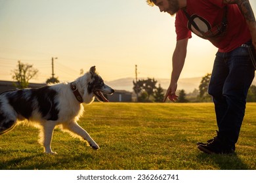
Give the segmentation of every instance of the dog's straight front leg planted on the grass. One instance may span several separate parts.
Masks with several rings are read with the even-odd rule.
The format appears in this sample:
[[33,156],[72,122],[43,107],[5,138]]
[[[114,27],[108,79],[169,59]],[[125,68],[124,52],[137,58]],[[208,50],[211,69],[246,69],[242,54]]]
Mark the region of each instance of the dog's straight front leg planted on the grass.
[[47,154],[56,154],[56,152],[53,152],[51,149],[54,127],[54,122],[47,121],[45,124],[43,124],[43,129],[41,129],[41,138],[43,140],[44,152]]

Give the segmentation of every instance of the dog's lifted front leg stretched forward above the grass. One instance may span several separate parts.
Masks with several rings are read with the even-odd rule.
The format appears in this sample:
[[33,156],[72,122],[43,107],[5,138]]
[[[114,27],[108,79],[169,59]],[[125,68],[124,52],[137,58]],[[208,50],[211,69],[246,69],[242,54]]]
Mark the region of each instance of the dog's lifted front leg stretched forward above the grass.
[[87,131],[85,131],[81,126],[79,126],[77,122],[70,122],[68,124],[64,124],[63,127],[64,129],[68,129],[72,133],[75,133],[76,135],[82,137],[85,141],[89,143],[89,145],[93,149],[97,150],[98,148],[100,148],[98,144],[96,144],[96,142],[93,141],[89,133],[87,133]]

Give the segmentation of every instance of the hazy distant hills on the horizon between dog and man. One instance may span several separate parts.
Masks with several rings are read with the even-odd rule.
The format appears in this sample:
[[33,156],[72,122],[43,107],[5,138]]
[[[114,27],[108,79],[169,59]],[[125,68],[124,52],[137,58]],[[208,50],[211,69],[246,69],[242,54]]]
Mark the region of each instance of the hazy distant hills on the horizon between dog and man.
[[[139,78],[142,79],[142,78]],[[112,81],[105,81],[106,84],[110,85],[116,90],[127,90],[133,92],[133,80],[135,78],[120,78]],[[161,84],[163,89],[167,89],[170,83],[169,79],[166,78],[156,78],[158,84]],[[198,89],[202,78],[181,78],[178,82],[178,90],[185,90],[186,93],[193,92],[194,89]]]

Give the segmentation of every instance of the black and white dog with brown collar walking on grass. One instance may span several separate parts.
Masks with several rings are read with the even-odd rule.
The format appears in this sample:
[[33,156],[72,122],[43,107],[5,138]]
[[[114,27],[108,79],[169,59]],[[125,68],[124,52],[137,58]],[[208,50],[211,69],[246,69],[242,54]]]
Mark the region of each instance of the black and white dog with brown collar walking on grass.
[[0,95],[0,135],[11,131],[18,121],[33,122],[30,124],[40,127],[44,152],[56,154],[51,149],[51,140],[54,127],[62,125],[62,129],[78,135],[97,150],[98,144],[77,124],[77,120],[83,114],[82,103],[89,105],[95,97],[98,101],[108,102],[104,94],[112,93],[114,90],[104,84],[95,66],[74,82],[3,92]]

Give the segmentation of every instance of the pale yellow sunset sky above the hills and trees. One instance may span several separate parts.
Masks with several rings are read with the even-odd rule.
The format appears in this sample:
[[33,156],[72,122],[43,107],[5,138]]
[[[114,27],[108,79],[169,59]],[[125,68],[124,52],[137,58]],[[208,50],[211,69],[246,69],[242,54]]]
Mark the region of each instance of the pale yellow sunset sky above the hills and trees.
[[[256,12],[256,2],[251,1]],[[146,0],[0,0],[0,80],[12,80],[18,60],[70,82],[91,66],[105,81],[170,78],[175,17]],[[180,78],[211,73],[217,48],[192,35]],[[56,59],[55,59],[56,58]]]

